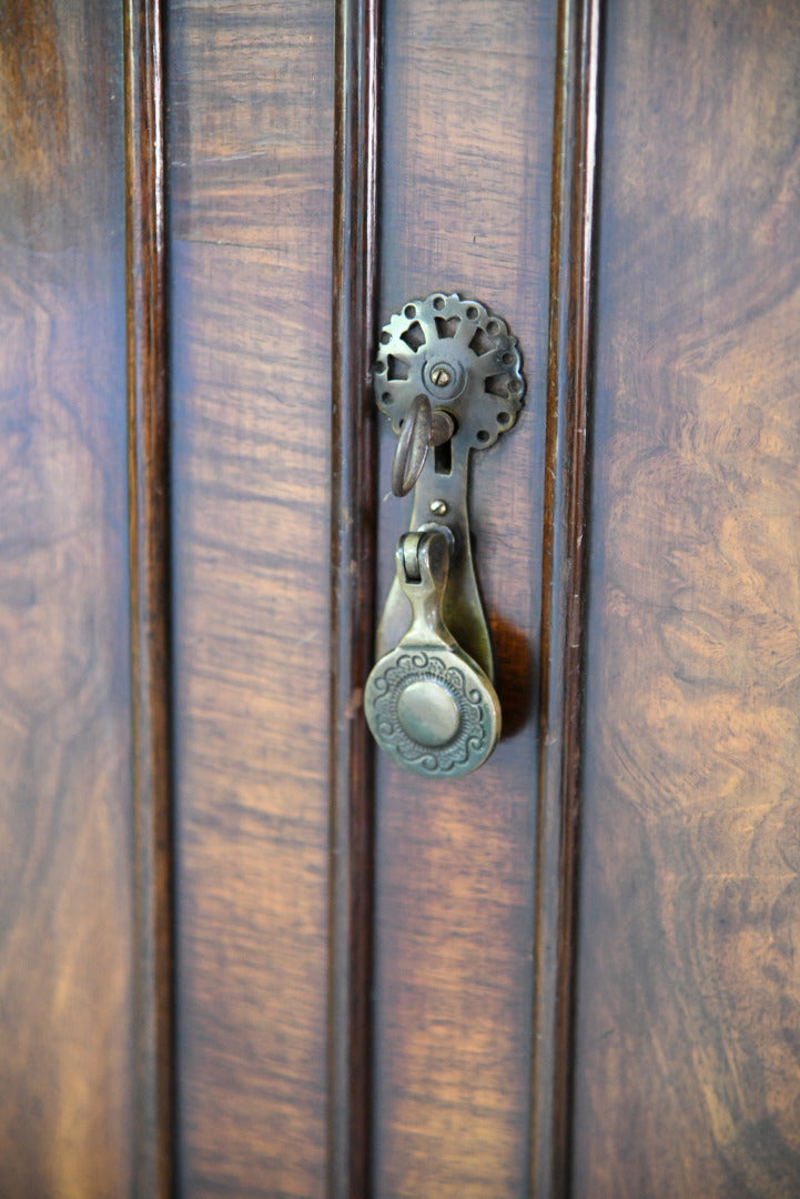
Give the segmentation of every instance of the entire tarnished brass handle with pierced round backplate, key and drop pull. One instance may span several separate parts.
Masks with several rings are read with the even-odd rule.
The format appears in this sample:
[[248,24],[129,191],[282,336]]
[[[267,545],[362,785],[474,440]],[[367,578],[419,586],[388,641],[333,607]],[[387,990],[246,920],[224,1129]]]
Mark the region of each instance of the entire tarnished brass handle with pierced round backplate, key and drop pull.
[[[410,542],[408,536],[401,538],[398,577],[377,629],[381,661],[368,682],[368,694],[372,697],[368,718],[378,742],[410,769],[423,775],[466,773],[485,761],[499,730],[499,707],[490,682],[493,671],[489,627],[472,560],[467,508],[469,451],[492,446],[516,421],[525,393],[520,351],[505,324],[478,301],[434,293],[405,305],[384,326],[374,380],[377,405],[400,435],[392,471],[393,489],[401,495],[414,488],[411,532],[438,534],[436,546],[443,541],[447,550],[446,567],[434,565],[430,584],[437,597],[436,628],[444,631],[438,635],[449,651],[461,655],[471,670],[479,671],[475,695],[495,712],[491,725],[495,740],[489,734],[481,736],[480,753],[471,752],[466,758],[456,748],[455,758],[446,754],[446,747],[457,746],[457,730],[466,727],[466,716],[459,707],[457,724],[454,723],[456,701],[436,689],[440,683],[431,675],[438,667],[423,669],[420,664],[410,664],[406,650],[401,653],[404,646],[412,644],[416,653],[430,657],[429,649],[419,640],[408,643],[410,637],[419,637],[420,628],[414,607],[418,592],[410,589],[420,583],[422,573],[416,576],[414,571],[424,572],[426,554],[432,553],[438,562],[438,555],[444,553],[440,548],[425,550],[428,543]],[[411,628],[408,602],[413,610]],[[402,657],[402,670],[398,655]],[[412,665],[423,671],[420,677],[412,677]],[[384,680],[384,692],[375,689],[378,679]],[[388,694],[395,697],[394,733],[386,723]],[[441,737],[451,731],[441,745],[425,743],[424,737],[434,735],[431,729],[438,730],[436,736]],[[418,758],[410,755],[412,742],[425,749]]]

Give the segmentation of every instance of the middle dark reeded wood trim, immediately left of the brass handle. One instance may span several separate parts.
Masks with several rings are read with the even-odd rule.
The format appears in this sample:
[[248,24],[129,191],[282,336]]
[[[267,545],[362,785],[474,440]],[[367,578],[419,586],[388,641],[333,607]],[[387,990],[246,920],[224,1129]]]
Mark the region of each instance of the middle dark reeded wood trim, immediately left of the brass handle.
[[362,711],[372,655],[378,0],[337,4],[332,507],[331,1007],[332,1199],[369,1193],[372,748]]

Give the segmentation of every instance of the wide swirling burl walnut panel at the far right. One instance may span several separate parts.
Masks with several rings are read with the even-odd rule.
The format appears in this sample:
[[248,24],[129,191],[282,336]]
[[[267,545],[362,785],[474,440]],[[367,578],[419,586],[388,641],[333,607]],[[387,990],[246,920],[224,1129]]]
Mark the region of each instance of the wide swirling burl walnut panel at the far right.
[[800,1191],[800,12],[608,6],[580,1197]]

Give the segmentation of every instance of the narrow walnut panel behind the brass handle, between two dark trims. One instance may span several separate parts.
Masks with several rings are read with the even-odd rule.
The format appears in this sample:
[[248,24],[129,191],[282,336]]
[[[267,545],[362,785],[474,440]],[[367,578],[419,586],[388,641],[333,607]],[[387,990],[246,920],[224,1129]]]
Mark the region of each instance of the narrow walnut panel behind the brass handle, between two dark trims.
[[[378,760],[375,1164],[378,1195],[527,1187],[537,643],[556,10],[384,6],[380,315],[436,289],[519,337],[527,406],[477,453],[473,534],[504,739],[475,775]],[[381,493],[395,439],[382,429]],[[408,510],[381,505],[378,602]]]

